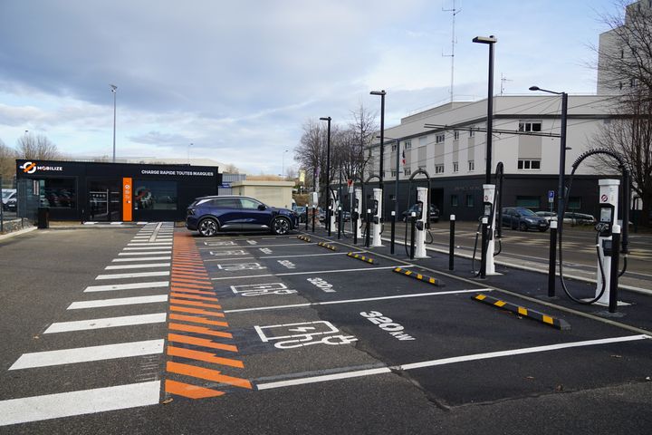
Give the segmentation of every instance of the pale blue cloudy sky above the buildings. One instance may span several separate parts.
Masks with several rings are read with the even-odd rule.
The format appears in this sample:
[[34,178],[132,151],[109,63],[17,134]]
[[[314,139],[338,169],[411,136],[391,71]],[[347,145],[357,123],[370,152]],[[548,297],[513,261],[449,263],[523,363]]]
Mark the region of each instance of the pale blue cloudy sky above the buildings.
[[[253,174],[291,166],[302,123],[350,121],[360,104],[386,125],[446,102],[453,0],[2,0],[0,139],[44,134],[70,157],[212,158]],[[594,93],[590,45],[612,0],[457,0],[455,99],[537,84]]]

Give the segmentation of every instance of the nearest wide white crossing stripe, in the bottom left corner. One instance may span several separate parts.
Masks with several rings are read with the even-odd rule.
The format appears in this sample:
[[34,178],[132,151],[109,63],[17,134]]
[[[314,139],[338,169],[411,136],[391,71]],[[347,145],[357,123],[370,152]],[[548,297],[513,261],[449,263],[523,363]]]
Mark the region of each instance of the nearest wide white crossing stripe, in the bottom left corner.
[[0,401],[0,426],[158,404],[160,381]]

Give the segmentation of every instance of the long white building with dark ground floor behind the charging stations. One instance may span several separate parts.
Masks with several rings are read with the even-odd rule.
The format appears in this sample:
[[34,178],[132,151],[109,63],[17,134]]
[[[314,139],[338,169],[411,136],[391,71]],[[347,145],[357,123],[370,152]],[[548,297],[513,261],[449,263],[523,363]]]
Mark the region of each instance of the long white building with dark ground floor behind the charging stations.
[[[609,96],[569,96],[567,174],[573,161],[590,149],[599,126],[609,122],[609,101]],[[408,198],[408,188],[413,191],[416,185],[425,185],[419,176],[410,185],[410,174],[425,169],[431,178],[430,200],[441,210],[442,217],[455,214],[457,218],[475,220],[480,216],[486,167],[486,111],[486,100],[450,102],[403,118],[399,125],[385,130],[386,218],[394,209],[397,159],[399,213],[414,202],[414,198]],[[554,190],[556,195],[558,189],[561,96],[534,92],[527,96],[496,96],[493,125],[491,172],[499,161],[503,162],[503,207],[556,209],[556,199],[549,203],[548,193]],[[369,152],[373,163],[365,179],[379,174],[379,143],[372,145]],[[405,164],[401,161],[403,155]],[[569,209],[587,213],[597,209],[598,177],[594,173],[595,169],[588,165],[578,169]]]

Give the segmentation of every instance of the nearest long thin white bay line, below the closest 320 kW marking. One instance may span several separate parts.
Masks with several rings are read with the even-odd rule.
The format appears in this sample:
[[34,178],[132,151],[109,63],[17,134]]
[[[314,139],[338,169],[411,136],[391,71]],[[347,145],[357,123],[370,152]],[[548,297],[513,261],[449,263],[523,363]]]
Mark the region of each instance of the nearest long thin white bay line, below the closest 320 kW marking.
[[411,364],[403,364],[403,365],[396,365],[396,366],[391,366],[387,368],[378,368],[378,369],[369,369],[369,370],[357,370],[357,371],[352,371],[352,372],[341,372],[341,373],[334,373],[334,374],[327,374],[327,375],[321,375],[321,376],[309,376],[305,378],[300,378],[300,379],[292,379],[289,381],[280,381],[280,382],[266,382],[266,383],[259,383],[256,385],[256,388],[258,390],[269,390],[272,388],[283,388],[283,387],[290,387],[293,385],[302,385],[302,384],[307,384],[307,383],[315,383],[315,382],[327,382],[327,381],[335,381],[335,380],[340,380],[340,379],[348,379],[348,378],[356,378],[360,376],[370,376],[374,374],[381,374],[381,373],[388,373],[392,371],[405,371],[405,370],[414,370],[414,369],[420,369],[424,367],[432,367],[436,365],[444,365],[444,364],[451,364],[455,362],[467,362],[467,361],[477,361],[477,360],[486,360],[486,359],[491,359],[491,358],[499,358],[503,356],[511,356],[511,355],[519,355],[519,354],[524,354],[524,353],[541,353],[541,352],[549,352],[549,351],[556,351],[560,349],[570,349],[574,347],[583,347],[583,346],[595,346],[599,344],[607,344],[607,343],[622,343],[622,342],[631,342],[635,340],[644,340],[644,339],[649,339],[651,338],[649,335],[628,335],[625,337],[614,337],[614,338],[606,338],[606,339],[599,339],[599,340],[587,340],[583,342],[571,342],[571,343],[560,343],[560,344],[551,344],[548,346],[536,346],[536,347],[527,347],[523,349],[513,349],[509,351],[502,351],[502,352],[490,352],[490,353],[475,353],[472,355],[465,355],[465,356],[457,356],[453,358],[443,358],[440,360],[430,360],[430,361],[424,361],[424,362],[415,362]]

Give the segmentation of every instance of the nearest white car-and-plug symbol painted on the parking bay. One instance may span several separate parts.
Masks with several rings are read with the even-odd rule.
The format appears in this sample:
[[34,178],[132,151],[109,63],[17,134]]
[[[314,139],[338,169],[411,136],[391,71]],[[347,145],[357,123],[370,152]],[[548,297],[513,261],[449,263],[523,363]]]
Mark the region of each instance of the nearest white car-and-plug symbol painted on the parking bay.
[[301,324],[254,325],[264,343],[273,343],[277,349],[293,349],[312,344],[339,345],[358,341],[353,335],[345,335],[331,322],[323,320]]

